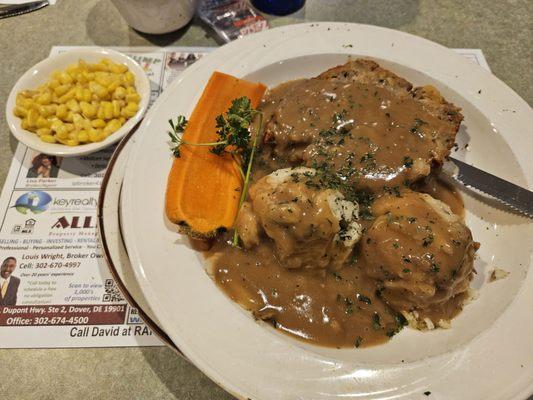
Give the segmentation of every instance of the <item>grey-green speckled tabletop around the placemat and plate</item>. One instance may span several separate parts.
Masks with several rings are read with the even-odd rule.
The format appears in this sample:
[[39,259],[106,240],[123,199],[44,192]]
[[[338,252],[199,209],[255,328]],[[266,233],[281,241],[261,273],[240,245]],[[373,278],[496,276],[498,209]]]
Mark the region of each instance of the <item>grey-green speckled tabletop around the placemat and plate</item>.
[[[1,1],[0,1],[1,2]],[[530,0],[307,0],[303,21],[349,21],[420,35],[454,48],[481,48],[492,72],[533,103],[533,2]],[[109,0],[59,0],[43,10],[0,21],[0,182],[16,141],[5,122],[11,87],[54,45],[217,46],[197,21],[166,35],[130,28]],[[1,346],[1,345],[0,345]],[[232,399],[165,347],[0,350],[2,398]],[[6,379],[8,378],[8,379]]]

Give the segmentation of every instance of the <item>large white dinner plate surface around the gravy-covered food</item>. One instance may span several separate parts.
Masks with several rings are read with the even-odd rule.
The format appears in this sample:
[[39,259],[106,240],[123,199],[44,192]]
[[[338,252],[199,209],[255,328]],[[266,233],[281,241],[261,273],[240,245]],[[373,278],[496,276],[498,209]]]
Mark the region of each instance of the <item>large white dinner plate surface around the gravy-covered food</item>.
[[[190,115],[215,70],[269,86],[373,58],[415,85],[433,84],[463,108],[455,156],[533,187],[533,112],[490,73],[440,45],[384,28],[313,23],[223,46],[181,74],[144,119],[124,181],[122,217],[137,279],[163,329],[231,393],[257,399],[519,399],[533,390],[533,224],[465,194],[467,223],[482,243],[473,286],[479,299],[452,329],[405,329],[382,346],[328,349],[255,322],[210,280],[201,256],[164,216],[172,158],[167,120]],[[511,272],[487,283],[494,267]]]

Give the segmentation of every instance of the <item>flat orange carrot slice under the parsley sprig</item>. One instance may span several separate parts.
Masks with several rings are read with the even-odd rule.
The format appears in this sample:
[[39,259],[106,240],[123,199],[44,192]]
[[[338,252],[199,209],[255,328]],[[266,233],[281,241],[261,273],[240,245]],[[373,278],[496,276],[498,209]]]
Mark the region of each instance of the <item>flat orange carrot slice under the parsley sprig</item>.
[[[256,108],[266,90],[248,82],[214,72],[196,104],[183,133],[188,143],[216,142],[216,117],[234,99],[246,96]],[[238,212],[242,177],[229,154],[216,155],[206,146],[182,146],[168,176],[166,214],[182,232],[197,238],[213,236],[233,226]]]

